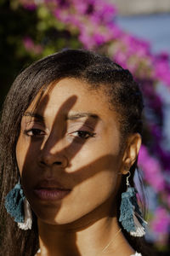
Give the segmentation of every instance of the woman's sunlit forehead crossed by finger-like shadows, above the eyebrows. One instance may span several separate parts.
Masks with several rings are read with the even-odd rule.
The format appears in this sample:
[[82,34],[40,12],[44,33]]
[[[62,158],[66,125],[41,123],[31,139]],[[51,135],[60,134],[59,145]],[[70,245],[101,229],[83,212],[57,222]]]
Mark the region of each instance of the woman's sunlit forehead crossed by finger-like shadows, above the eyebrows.
[[51,117],[56,113],[65,115],[81,112],[94,113],[102,119],[117,119],[102,86],[94,90],[90,84],[79,79],[61,79],[48,86],[40,102],[39,96],[40,93],[27,110]]

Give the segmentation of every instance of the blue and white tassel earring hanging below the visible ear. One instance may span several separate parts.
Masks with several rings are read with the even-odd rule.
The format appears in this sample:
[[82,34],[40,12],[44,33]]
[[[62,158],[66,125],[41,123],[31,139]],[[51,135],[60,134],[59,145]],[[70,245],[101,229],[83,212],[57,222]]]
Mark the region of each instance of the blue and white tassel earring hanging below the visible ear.
[[[129,171],[128,171],[129,172]],[[144,236],[145,227],[147,222],[142,218],[142,213],[140,212],[139,205],[136,198],[136,189],[130,187],[127,176],[127,191],[122,193],[121,202],[121,215],[119,221],[122,226],[131,236]]]

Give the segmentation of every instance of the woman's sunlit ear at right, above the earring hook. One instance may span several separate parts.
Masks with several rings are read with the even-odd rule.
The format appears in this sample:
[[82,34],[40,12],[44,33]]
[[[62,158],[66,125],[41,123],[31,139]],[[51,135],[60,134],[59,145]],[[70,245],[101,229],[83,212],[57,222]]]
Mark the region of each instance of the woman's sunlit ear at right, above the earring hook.
[[142,139],[139,133],[133,133],[127,138],[127,147],[122,157],[122,174],[127,174],[137,159]]

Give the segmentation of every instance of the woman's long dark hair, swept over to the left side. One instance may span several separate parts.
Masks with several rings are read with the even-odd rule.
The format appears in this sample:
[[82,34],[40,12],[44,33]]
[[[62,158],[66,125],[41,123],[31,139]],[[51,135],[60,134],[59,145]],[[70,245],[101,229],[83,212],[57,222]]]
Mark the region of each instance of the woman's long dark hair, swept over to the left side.
[[[21,118],[42,87],[47,88],[48,84],[63,78],[82,79],[94,90],[102,86],[110,105],[118,113],[124,142],[130,133],[142,131],[143,99],[139,85],[133,80],[131,73],[105,56],[82,49],[66,49],[33,63],[20,73],[4,102],[0,126],[2,190],[0,242],[3,255],[23,256],[34,255],[37,252],[36,221],[32,230],[19,230],[17,224],[4,209],[4,197],[19,179],[15,147],[20,134]],[[136,166],[137,162],[130,170],[132,172],[131,185],[133,185],[133,173]],[[122,186],[123,189],[125,188]],[[136,243],[130,236],[127,234],[126,236],[127,241],[138,250]]]

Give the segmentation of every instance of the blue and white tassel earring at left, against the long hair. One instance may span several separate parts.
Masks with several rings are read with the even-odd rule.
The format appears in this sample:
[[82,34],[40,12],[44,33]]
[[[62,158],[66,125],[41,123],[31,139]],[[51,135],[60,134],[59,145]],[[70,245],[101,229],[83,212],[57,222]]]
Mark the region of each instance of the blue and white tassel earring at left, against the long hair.
[[32,217],[29,202],[26,200],[20,182],[5,197],[5,208],[21,230],[31,230]]

